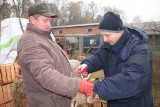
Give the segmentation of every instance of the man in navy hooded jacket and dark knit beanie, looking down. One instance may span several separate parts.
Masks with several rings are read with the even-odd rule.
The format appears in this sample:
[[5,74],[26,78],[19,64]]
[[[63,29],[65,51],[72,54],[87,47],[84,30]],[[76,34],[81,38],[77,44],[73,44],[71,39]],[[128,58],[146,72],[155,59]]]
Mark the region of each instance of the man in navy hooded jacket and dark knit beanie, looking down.
[[148,36],[123,26],[118,14],[107,12],[100,24],[104,44],[77,68],[78,73],[103,69],[105,78],[94,92],[107,100],[107,107],[153,107],[152,52]]

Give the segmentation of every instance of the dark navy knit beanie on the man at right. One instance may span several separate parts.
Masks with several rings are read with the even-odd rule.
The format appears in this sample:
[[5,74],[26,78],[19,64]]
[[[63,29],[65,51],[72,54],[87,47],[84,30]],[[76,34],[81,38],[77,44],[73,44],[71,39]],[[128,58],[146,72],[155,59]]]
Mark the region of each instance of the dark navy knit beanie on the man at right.
[[123,31],[123,22],[118,14],[107,12],[103,16],[98,29],[105,32],[121,32]]

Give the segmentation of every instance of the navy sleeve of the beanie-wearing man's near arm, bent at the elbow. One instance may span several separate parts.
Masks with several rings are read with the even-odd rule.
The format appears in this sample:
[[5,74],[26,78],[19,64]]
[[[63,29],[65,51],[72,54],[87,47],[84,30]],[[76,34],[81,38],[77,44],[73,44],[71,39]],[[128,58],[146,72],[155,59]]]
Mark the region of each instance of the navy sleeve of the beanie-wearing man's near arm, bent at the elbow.
[[94,92],[106,100],[138,96],[151,87],[151,66],[148,50],[141,49],[127,59],[119,74],[95,83]]

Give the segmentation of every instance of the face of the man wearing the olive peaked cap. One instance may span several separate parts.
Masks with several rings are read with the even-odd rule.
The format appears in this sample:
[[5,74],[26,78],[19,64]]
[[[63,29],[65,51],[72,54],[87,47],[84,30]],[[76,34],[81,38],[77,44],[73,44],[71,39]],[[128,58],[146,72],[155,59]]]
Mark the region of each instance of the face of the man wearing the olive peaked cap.
[[43,31],[49,31],[51,27],[51,17],[46,17],[42,15],[30,16],[30,22]]

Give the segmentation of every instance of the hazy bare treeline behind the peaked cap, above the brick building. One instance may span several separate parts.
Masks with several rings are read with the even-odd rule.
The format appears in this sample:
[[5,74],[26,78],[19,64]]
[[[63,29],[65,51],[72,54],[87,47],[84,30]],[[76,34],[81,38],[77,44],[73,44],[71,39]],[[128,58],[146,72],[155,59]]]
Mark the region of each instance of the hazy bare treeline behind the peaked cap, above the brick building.
[[[51,11],[58,15],[58,18],[53,18],[52,24],[56,25],[71,25],[83,23],[100,22],[102,9],[98,9],[95,2],[85,4],[82,1],[73,2],[68,0],[12,0],[13,3],[8,4],[7,0],[0,0],[0,19],[8,17],[23,17],[28,18],[28,8],[31,3],[46,2],[49,4]],[[123,11],[116,8],[105,7],[105,12],[112,10],[123,14]]]

